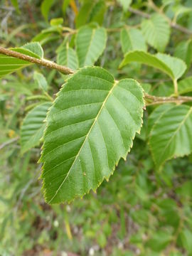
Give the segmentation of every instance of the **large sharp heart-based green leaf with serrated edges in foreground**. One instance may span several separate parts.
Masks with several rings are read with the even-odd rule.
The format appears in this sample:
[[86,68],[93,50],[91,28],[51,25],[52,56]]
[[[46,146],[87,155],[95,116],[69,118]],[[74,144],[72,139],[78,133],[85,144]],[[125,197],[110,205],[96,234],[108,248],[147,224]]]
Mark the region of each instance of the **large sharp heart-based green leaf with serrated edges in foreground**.
[[46,202],[72,201],[110,178],[141,129],[143,107],[135,80],[117,82],[96,67],[68,79],[47,117],[40,160]]

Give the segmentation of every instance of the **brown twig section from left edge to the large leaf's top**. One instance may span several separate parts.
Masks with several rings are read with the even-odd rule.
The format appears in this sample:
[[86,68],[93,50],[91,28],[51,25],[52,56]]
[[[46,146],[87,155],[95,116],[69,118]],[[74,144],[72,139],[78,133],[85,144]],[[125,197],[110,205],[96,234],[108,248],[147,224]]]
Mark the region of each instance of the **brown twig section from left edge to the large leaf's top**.
[[74,73],[74,71],[71,70],[70,68],[67,68],[63,65],[58,65],[56,63],[53,63],[50,60],[34,58],[34,57],[31,57],[31,56],[25,55],[23,53],[17,53],[14,50],[9,50],[9,49],[3,48],[1,46],[0,46],[0,53],[2,53],[4,55],[11,56],[11,57],[14,57],[14,58],[18,58],[20,60],[26,60],[30,63],[43,65],[46,68],[58,70],[58,71],[60,71],[61,73],[65,74],[65,75],[70,75],[70,74]]

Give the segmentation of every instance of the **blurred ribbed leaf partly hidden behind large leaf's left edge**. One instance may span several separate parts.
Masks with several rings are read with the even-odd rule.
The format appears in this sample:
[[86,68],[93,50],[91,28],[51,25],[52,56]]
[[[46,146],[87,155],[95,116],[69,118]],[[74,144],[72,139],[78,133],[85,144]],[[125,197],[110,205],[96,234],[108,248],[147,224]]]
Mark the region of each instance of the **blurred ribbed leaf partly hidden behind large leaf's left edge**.
[[38,105],[28,112],[25,119],[23,119],[21,126],[22,154],[40,144],[40,139],[43,137],[43,131],[46,128],[46,123],[43,123],[43,121],[46,119],[46,114],[50,106],[50,102]]

